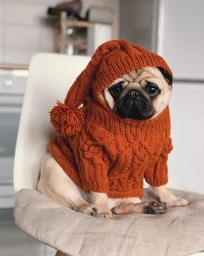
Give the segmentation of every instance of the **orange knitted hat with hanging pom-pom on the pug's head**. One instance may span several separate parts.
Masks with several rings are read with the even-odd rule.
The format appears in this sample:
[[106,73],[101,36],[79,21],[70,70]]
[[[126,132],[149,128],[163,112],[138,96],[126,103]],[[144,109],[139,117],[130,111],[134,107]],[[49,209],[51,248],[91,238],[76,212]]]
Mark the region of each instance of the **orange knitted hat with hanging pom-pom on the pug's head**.
[[84,111],[78,109],[95,94],[99,95],[116,78],[143,67],[162,67],[170,74],[168,64],[159,55],[123,40],[113,40],[98,47],[89,64],[76,78],[64,104],[50,111],[50,121],[56,133],[71,136],[82,130]]

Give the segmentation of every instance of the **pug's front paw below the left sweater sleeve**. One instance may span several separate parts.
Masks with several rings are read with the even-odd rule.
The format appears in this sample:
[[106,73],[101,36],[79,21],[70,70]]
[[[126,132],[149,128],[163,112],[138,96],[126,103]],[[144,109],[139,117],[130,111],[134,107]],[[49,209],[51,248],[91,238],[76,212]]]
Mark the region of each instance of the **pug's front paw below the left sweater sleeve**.
[[97,216],[102,218],[112,218],[112,212],[109,209],[109,198],[106,193],[90,192],[90,199],[97,210]]

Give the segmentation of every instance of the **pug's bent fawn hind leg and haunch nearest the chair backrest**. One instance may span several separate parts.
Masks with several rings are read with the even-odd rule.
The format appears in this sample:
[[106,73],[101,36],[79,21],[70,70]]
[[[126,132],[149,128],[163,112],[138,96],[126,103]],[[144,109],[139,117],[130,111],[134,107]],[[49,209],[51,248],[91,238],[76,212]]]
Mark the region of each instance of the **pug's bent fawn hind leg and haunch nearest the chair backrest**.
[[46,154],[43,157],[37,190],[59,204],[76,212],[95,215],[95,209],[82,198],[80,188],[63,172],[56,160]]

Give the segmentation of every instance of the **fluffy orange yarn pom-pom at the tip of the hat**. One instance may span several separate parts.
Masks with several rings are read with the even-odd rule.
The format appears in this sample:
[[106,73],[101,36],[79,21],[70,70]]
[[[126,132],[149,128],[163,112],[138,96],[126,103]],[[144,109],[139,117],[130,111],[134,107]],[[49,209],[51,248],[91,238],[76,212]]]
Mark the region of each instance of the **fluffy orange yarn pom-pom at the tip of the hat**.
[[57,101],[57,105],[50,111],[50,121],[57,134],[71,136],[82,131],[84,114],[82,110],[71,110],[66,104]]

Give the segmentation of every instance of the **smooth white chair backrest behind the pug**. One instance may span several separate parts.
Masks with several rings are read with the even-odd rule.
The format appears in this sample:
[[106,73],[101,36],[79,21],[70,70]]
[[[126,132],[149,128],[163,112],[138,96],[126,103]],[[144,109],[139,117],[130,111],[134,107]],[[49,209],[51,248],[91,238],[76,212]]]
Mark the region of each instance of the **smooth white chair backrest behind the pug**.
[[63,101],[69,86],[89,63],[89,57],[37,54],[29,77],[16,140],[14,190],[36,188],[39,166],[54,135],[49,111],[56,99]]

